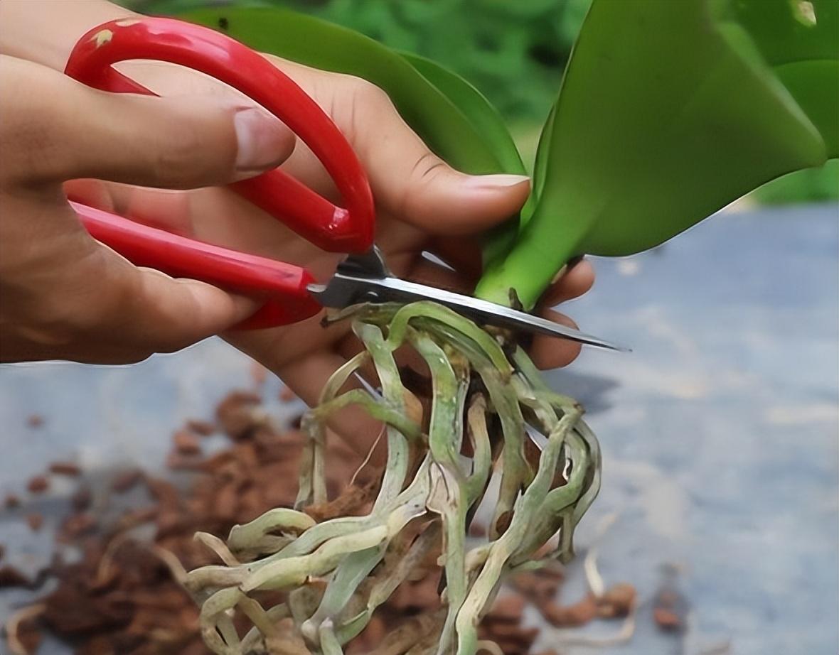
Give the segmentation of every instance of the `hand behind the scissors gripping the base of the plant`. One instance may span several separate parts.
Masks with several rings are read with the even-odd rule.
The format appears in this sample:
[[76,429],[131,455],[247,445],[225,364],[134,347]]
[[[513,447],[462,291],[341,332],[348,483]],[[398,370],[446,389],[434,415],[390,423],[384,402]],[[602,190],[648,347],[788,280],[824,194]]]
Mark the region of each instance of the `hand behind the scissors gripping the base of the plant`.
[[[471,289],[480,273],[477,234],[519,210],[528,195],[527,179],[457,173],[429,152],[376,87],[346,75],[270,59],[325,108],[362,160],[377,202],[376,242],[394,272],[446,288]],[[234,93],[166,64],[134,63],[121,70],[163,95]],[[340,200],[304,143],[297,143],[283,169]],[[85,191],[91,193],[90,188],[81,190]],[[103,190],[94,191],[101,204]],[[316,278],[328,278],[341,257],[320,252],[229,190],[171,194],[108,185],[104,193],[107,203],[120,206],[135,220],[165,221],[202,241],[299,263]],[[454,270],[430,263],[423,252],[440,257]],[[585,293],[592,282],[591,266],[578,263],[550,289],[545,304]],[[573,325],[564,316],[548,315]],[[321,329],[319,320],[320,316],[274,330],[230,334],[227,339],[276,372],[306,402],[315,403],[326,378],[358,348],[348,325]],[[534,357],[544,367],[565,365],[578,352],[579,346],[569,341],[534,340]]]

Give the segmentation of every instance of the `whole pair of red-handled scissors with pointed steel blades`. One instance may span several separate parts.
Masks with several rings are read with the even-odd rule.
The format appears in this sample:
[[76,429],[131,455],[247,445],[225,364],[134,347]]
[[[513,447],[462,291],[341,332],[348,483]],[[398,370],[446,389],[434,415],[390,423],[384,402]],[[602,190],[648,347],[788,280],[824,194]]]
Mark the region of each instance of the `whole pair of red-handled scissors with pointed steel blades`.
[[183,65],[242,91],[309,146],[341,193],[343,206],[333,205],[279,169],[230,185],[320,249],[347,254],[326,284],[316,283],[305,268],[195,241],[70,197],[70,205],[91,236],[132,263],[264,298],[262,307],[237,327],[288,325],[318,314],[323,307],[433,300],[483,324],[622,350],[523,311],[393,275],[373,244],[373,194],[347,139],[305,91],[247,46],[211,29],[172,18],[116,20],[91,29],[79,40],[65,73],[102,91],[154,95],[113,68],[113,64],[125,60]]

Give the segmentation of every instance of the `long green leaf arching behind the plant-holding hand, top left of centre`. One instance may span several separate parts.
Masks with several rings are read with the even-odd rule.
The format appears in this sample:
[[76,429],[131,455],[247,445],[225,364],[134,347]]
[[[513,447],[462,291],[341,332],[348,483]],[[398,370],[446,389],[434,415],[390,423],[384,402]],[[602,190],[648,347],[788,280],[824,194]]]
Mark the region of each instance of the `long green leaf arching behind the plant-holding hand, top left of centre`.
[[[512,161],[507,151],[506,159],[499,159],[492,145],[496,142],[487,142],[487,135],[473,124],[472,117],[402,55],[351,29],[280,8],[206,8],[182,18],[213,28],[223,24],[226,34],[254,49],[373,82],[388,93],[399,114],[425,143],[456,169],[498,173],[507,170],[505,163]],[[442,78],[439,71],[432,75]],[[452,78],[453,73],[446,76],[450,92],[455,86]],[[466,91],[460,87],[457,94],[462,100]],[[483,101],[479,94],[477,99]],[[477,106],[477,99],[472,96],[469,102]],[[486,122],[487,110],[479,108],[478,123]],[[498,136],[498,125],[493,130]]]

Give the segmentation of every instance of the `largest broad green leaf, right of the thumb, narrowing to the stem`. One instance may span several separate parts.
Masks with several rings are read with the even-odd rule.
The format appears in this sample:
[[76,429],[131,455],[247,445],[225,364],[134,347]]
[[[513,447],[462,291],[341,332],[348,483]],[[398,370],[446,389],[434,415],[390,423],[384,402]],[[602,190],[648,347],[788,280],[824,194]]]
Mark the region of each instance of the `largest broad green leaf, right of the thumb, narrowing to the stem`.
[[726,7],[595,0],[539,158],[534,215],[480,297],[507,303],[515,289],[532,307],[575,255],[654,247],[770,179],[825,162],[814,108],[802,110]]

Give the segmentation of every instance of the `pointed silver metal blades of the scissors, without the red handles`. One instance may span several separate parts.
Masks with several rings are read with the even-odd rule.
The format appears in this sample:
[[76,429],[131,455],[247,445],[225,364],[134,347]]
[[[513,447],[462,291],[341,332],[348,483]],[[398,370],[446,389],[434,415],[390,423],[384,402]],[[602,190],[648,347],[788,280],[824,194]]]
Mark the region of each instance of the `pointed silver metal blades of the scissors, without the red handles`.
[[628,348],[616,346],[597,336],[586,335],[580,330],[559,325],[540,316],[397,278],[388,271],[378,250],[363,256],[347,257],[347,260],[338,266],[328,284],[310,284],[309,291],[320,304],[335,309],[359,303],[410,303],[432,300],[479,323],[570,339],[612,351],[628,351]]

